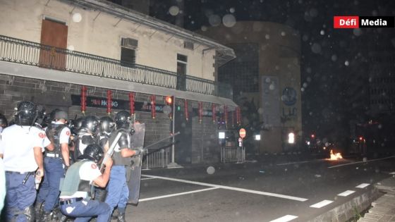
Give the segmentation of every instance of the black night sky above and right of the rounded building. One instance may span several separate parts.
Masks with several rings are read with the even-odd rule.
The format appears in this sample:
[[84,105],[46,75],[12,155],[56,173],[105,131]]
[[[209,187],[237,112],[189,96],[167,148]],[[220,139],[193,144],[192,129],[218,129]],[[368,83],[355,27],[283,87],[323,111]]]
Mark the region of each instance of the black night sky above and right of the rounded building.
[[[170,8],[177,1],[182,0],[155,1],[151,16],[174,23]],[[300,32],[305,132],[344,137],[349,133],[348,119],[367,121],[368,104],[350,104],[348,89],[356,78],[368,78],[370,51],[395,51],[395,32],[393,28],[334,29],[333,16],[395,16],[395,1],[184,0],[184,4],[184,27],[192,31],[213,25],[216,21],[210,16],[218,20],[231,14],[236,22],[271,21]]]

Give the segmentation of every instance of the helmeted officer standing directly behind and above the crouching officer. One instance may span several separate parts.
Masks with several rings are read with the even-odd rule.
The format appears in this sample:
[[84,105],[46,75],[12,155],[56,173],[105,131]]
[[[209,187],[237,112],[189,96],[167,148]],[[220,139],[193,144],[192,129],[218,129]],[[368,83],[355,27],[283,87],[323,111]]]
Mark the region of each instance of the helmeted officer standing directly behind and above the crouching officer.
[[78,141],[75,144],[75,159],[84,153],[87,145],[97,144],[97,130],[99,129],[99,119],[96,116],[86,116],[78,131]]

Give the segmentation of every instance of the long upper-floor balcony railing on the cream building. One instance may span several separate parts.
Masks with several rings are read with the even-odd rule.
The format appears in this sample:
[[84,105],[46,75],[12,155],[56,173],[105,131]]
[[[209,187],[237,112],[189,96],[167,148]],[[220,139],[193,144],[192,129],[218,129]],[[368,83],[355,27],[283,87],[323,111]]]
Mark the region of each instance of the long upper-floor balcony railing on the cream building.
[[[0,35],[0,60],[231,99],[230,85]],[[178,77],[178,78],[177,78]],[[180,83],[183,84],[180,86]],[[178,86],[177,86],[178,84]]]

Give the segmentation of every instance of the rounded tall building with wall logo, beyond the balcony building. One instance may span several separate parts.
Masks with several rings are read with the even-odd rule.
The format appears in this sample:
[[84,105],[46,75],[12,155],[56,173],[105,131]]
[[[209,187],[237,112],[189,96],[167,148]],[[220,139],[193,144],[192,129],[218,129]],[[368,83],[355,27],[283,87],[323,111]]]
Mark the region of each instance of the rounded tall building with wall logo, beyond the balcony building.
[[255,142],[259,151],[292,149],[288,134],[296,135],[296,143],[302,137],[298,32],[277,23],[238,21],[232,27],[207,27],[199,33],[234,49],[236,59],[219,68],[218,80],[233,86],[243,124],[253,125],[250,134],[261,135]]

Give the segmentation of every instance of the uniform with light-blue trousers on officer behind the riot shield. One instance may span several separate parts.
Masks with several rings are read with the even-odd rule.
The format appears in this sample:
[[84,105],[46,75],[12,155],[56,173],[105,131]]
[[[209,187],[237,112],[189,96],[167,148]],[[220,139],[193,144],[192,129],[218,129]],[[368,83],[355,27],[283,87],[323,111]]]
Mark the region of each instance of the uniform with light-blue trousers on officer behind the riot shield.
[[126,181],[126,166],[130,166],[131,158],[122,157],[121,149],[130,149],[130,133],[125,130],[116,130],[115,135],[122,132],[119,142],[116,144],[113,154],[114,164],[111,168],[110,180],[107,185],[106,203],[111,207],[111,211],[118,206],[118,212],[124,214],[126,204],[128,204],[129,189]]

